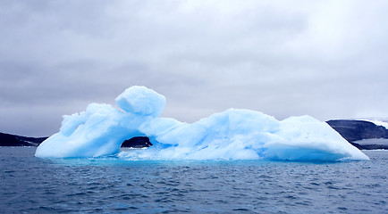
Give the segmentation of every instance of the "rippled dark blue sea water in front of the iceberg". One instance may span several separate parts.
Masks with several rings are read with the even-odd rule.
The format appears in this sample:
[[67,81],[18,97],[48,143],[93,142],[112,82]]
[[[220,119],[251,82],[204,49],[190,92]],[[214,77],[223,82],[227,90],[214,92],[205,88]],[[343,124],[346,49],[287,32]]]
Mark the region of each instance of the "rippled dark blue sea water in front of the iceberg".
[[0,147],[0,213],[388,213],[388,151],[371,161],[39,159]]

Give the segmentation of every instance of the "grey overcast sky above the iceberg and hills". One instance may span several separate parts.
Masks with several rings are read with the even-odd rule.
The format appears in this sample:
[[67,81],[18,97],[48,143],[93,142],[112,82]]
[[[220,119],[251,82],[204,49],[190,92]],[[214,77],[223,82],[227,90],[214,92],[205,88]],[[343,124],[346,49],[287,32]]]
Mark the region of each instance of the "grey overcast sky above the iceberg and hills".
[[0,132],[49,136],[62,115],[134,85],[164,117],[229,108],[276,119],[388,117],[388,1],[0,0]]

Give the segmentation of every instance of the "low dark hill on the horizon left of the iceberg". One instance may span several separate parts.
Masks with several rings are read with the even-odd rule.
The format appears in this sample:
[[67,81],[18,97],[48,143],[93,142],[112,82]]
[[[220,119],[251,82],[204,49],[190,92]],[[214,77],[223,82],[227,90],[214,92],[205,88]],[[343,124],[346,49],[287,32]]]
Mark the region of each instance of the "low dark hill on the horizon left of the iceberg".
[[15,136],[0,132],[0,146],[38,146],[47,137]]

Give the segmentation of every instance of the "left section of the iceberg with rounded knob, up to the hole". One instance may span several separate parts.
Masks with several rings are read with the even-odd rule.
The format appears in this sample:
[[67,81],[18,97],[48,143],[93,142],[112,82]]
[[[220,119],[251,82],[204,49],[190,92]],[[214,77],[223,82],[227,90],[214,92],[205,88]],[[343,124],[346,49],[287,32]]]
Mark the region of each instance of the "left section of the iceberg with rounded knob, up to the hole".
[[123,110],[90,103],[86,111],[63,116],[62,127],[38,146],[37,157],[97,157],[120,152],[122,142],[164,110],[165,98],[145,86],[132,86],[115,99]]

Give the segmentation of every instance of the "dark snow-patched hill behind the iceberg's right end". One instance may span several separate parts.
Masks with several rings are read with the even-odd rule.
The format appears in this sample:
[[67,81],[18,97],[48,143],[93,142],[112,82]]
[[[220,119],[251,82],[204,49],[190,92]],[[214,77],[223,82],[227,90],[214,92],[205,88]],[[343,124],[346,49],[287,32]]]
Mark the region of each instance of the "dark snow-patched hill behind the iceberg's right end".
[[358,149],[388,149],[388,130],[383,126],[354,119],[333,119],[326,122]]

